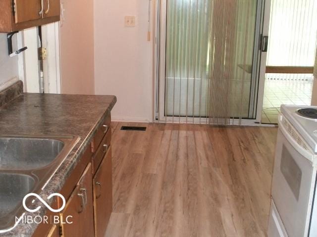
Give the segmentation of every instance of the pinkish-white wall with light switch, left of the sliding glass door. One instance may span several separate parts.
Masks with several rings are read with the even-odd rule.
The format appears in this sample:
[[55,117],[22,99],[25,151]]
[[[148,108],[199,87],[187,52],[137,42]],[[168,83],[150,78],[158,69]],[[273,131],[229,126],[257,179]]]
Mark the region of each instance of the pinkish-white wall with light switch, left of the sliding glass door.
[[[113,120],[152,121],[153,37],[149,42],[148,2],[94,2],[95,93],[117,96]],[[151,2],[154,11],[155,0]],[[136,27],[124,27],[125,15],[136,16]]]

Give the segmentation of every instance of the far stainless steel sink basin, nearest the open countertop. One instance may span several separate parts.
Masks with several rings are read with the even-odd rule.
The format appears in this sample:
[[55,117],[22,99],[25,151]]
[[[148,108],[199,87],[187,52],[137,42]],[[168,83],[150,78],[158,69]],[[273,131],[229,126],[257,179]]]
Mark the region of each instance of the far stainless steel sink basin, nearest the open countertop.
[[64,143],[55,139],[0,137],[0,169],[30,170],[50,164]]

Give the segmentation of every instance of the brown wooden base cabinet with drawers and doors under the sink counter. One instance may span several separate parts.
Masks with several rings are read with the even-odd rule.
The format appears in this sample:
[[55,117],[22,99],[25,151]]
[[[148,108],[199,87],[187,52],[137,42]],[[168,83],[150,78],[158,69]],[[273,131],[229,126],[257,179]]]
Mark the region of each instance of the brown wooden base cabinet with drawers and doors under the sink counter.
[[[39,225],[33,237],[105,236],[112,212],[110,121],[109,115],[59,192],[66,199],[59,213],[60,222],[54,226]],[[63,204],[61,198],[55,202],[55,209]],[[58,215],[48,212],[48,215],[55,214]],[[67,217],[72,223],[67,223]]]

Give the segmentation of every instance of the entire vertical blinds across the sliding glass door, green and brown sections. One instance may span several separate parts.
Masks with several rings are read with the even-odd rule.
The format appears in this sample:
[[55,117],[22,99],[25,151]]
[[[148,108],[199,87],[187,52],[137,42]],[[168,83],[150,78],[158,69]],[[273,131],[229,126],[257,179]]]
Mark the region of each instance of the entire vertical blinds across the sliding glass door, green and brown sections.
[[256,12],[256,0],[167,1],[165,117],[248,117]]

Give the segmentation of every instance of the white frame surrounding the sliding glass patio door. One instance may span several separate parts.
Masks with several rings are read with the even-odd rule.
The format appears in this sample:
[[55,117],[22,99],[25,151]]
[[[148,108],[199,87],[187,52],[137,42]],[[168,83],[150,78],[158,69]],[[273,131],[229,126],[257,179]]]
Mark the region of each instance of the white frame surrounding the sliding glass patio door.
[[[266,52],[260,50],[261,45],[260,36],[268,35],[269,28],[269,15],[270,15],[270,2],[271,0],[260,0],[260,7],[257,11],[260,11],[260,16],[257,21],[260,20],[261,25],[256,30],[255,50],[257,57],[257,64],[254,68],[257,69],[255,76],[258,77],[256,83],[253,86],[252,91],[258,89],[258,93],[250,98],[250,106],[253,103],[255,119],[242,119],[241,125],[257,125],[261,123],[262,106],[264,96],[264,80],[265,80],[265,67],[266,67]],[[154,103],[154,118],[156,121],[161,122],[180,122],[180,123],[208,123],[207,118],[178,118],[178,117],[165,117],[165,46],[166,46],[166,7],[167,0],[158,0],[156,5],[156,17],[155,17],[155,103]],[[257,51],[258,50],[258,51]],[[257,52],[256,52],[257,51]],[[251,100],[252,99],[252,100]],[[239,119],[230,119],[232,124],[239,124]]]

